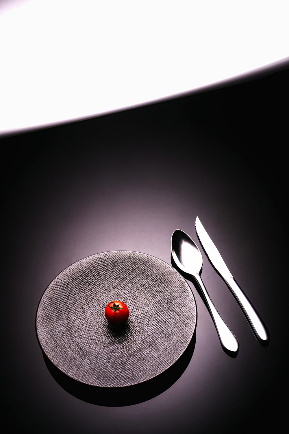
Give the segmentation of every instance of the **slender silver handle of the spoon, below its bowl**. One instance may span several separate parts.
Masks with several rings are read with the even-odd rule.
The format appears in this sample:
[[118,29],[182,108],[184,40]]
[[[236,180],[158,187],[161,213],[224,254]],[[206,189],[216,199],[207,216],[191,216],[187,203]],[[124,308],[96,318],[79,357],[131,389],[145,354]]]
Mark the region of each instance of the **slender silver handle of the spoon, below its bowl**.
[[231,352],[236,352],[239,348],[239,342],[236,336],[231,332],[227,324],[221,318],[221,315],[219,314],[218,310],[215,308],[214,303],[212,302],[211,297],[209,296],[207,289],[205,288],[205,285],[201,279],[201,276],[197,274],[194,277],[198,282],[198,285],[200,286],[202,293],[205,296],[206,302],[208,304],[208,308],[211,312],[211,316],[213,318],[222,346]]

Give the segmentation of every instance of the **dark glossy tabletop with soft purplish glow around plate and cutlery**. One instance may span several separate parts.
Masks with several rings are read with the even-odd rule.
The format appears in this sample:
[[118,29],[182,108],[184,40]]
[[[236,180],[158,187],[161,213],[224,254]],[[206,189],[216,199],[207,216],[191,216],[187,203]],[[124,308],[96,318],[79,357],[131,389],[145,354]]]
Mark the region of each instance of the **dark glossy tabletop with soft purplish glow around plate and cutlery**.
[[[283,431],[287,85],[285,64],[191,95],[0,139],[6,432]],[[175,229],[200,247],[196,216],[265,322],[270,345],[257,342],[204,254],[201,277],[240,342],[237,357],[221,348],[188,281],[198,312],[195,335],[158,378],[102,391],[55,369],[35,330],[52,279],[108,250],[139,251],[170,264]]]

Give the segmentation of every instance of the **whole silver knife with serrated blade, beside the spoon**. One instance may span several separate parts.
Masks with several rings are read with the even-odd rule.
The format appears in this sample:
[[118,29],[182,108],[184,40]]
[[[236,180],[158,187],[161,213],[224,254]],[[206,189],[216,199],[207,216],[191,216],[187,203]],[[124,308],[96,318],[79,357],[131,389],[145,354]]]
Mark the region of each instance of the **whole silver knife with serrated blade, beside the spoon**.
[[208,259],[211,262],[212,266],[221,275],[222,279],[239,303],[239,306],[242,309],[247,321],[249,322],[257,340],[260,342],[261,345],[268,345],[270,341],[270,335],[266,328],[266,325],[263,323],[256,309],[234,279],[232,273],[225,264],[220,252],[214,245],[213,241],[211,240],[204,226],[201,224],[201,220],[198,217],[195,221],[195,228],[198,240],[201,243],[201,247],[208,256]]

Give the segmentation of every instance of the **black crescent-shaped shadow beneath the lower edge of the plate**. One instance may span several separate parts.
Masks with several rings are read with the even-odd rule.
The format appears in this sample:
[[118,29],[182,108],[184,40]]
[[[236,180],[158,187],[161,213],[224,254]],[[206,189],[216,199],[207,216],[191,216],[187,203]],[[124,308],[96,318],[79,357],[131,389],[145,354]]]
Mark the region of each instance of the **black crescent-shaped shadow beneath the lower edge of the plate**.
[[179,359],[166,371],[150,380],[133,386],[121,388],[105,388],[91,386],[74,380],[60,371],[43,353],[45,364],[57,383],[68,393],[82,401],[105,407],[124,407],[148,401],[169,389],[187,368],[196,342],[196,330],[193,337]]

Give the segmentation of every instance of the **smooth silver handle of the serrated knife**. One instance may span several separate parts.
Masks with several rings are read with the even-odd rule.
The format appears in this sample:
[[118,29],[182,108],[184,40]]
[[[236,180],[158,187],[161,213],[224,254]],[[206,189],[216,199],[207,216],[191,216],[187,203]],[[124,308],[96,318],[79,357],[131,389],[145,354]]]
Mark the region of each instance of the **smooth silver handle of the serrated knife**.
[[264,325],[262,319],[254,309],[252,303],[249,301],[247,296],[244,294],[240,286],[237,284],[234,277],[226,279],[225,282],[231,289],[233,295],[237,299],[241,309],[243,310],[247,321],[249,322],[253,332],[255,333],[258,341],[262,344],[266,344],[270,341],[270,335],[266,326]]

